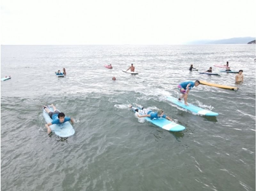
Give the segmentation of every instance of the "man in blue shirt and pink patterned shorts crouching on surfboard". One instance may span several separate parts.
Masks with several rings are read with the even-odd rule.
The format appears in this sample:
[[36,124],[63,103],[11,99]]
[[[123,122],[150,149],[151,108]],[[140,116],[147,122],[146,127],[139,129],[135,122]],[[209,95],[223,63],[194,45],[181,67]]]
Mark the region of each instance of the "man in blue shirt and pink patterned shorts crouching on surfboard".
[[200,84],[200,81],[199,80],[196,80],[195,82],[193,81],[184,81],[182,83],[180,83],[178,85],[178,89],[180,90],[180,93],[182,94],[180,97],[179,97],[179,101],[181,101],[182,98],[184,98],[184,103],[185,105],[188,106],[188,103],[187,103],[187,99],[188,99],[188,93],[189,93],[189,90],[191,88],[193,88],[194,86],[199,86]]

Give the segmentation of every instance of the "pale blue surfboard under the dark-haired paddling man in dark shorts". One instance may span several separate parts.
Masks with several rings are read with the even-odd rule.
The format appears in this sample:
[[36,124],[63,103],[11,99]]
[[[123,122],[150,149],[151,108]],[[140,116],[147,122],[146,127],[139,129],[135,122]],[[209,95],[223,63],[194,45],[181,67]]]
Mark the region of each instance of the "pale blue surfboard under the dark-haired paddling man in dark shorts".
[[[52,107],[48,107],[48,109],[53,112]],[[52,119],[50,118],[50,116],[45,110],[43,110],[43,116],[46,123],[52,122]],[[60,137],[69,137],[75,134],[75,130],[73,129],[73,126],[69,123],[69,121],[66,121],[65,123],[62,123],[62,124],[53,124],[50,126],[50,128],[56,135]]]

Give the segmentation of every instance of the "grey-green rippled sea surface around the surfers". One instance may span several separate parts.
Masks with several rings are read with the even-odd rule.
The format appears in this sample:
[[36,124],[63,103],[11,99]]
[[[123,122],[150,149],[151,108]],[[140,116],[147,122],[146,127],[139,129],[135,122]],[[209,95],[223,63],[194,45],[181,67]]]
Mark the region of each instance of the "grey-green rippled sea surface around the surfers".
[[[254,58],[255,44],[2,45],[1,78],[12,78],[1,81],[1,190],[254,191]],[[226,61],[244,70],[243,84],[213,66]],[[132,63],[138,75],[122,72]],[[166,98],[187,80],[239,90],[192,88],[188,103],[219,113],[204,117]],[[75,119],[73,136],[47,134],[51,103]],[[129,104],[163,109],[186,129],[138,120]]]

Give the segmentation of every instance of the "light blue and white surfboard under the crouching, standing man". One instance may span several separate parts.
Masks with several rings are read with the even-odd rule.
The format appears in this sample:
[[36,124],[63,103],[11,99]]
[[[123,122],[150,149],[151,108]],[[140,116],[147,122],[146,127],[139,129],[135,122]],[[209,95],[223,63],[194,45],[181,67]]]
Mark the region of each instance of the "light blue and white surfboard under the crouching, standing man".
[[[200,81],[200,83],[201,83],[201,81]],[[183,100],[178,101],[178,98],[176,98],[176,97],[170,96],[170,97],[167,97],[167,99],[169,101],[171,101],[172,103],[174,103],[174,104],[176,104],[176,105],[178,105],[178,106],[180,106],[180,107],[182,107],[182,108],[184,108],[188,111],[192,111],[193,113],[199,114],[199,115],[204,115],[204,116],[218,116],[219,115],[219,113],[215,113],[215,112],[212,112],[212,111],[209,111],[209,110],[205,110],[201,107],[197,107],[195,105],[192,105],[191,103],[188,103],[188,106],[187,106],[187,105],[185,105]]]

